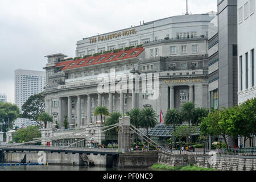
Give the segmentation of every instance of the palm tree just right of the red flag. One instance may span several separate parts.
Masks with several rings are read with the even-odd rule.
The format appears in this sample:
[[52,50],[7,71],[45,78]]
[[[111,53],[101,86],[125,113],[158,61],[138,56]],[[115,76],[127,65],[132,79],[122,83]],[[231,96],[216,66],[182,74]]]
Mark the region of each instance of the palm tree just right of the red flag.
[[174,137],[174,144],[176,145],[175,135],[174,135],[175,125],[182,124],[182,115],[181,115],[180,111],[177,110],[176,108],[167,110],[166,117],[165,117],[165,122],[166,122],[167,126],[168,125],[173,125],[174,126],[174,130],[173,130],[172,134],[173,134],[173,137]]

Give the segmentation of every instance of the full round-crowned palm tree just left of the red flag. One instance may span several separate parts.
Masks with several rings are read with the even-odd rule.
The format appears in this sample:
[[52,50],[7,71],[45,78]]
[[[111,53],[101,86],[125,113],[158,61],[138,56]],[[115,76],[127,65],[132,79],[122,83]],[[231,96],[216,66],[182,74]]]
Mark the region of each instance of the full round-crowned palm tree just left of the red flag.
[[147,107],[141,111],[139,115],[139,126],[147,129],[147,137],[148,137],[148,129],[152,129],[157,124],[156,112],[151,107]]

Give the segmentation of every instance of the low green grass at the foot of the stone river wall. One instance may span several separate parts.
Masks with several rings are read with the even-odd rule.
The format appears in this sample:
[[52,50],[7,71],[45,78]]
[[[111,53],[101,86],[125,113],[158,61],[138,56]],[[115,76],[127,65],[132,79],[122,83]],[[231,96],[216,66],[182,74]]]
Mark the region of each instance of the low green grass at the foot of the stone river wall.
[[173,167],[173,166],[167,166],[164,164],[154,164],[152,169],[162,169],[162,170],[168,170],[168,171],[217,171],[217,169],[213,168],[203,168],[198,166],[193,166],[192,164],[190,166],[184,166],[184,167]]

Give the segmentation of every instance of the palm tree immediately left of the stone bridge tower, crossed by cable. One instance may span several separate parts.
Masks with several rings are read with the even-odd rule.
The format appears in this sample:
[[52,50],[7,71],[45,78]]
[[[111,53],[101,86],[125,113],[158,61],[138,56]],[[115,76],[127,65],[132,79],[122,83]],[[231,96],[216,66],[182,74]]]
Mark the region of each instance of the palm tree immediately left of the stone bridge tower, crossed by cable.
[[[119,113],[119,112],[114,112],[112,114],[110,114],[110,117],[108,117],[106,119],[106,121],[104,122],[104,126],[111,126],[111,125],[114,125],[115,123],[118,123],[119,122],[119,118],[122,117],[122,114]],[[111,136],[111,142],[112,142],[112,146],[113,146],[113,135],[114,134],[117,134],[117,130],[116,129],[111,129],[111,130],[108,130],[108,131],[105,131],[104,134],[106,136]]]

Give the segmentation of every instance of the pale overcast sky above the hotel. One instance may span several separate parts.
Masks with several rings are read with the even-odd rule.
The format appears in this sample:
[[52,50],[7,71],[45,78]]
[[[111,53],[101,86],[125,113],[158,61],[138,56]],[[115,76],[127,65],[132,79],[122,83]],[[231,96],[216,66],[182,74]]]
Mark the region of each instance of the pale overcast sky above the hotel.
[[[44,71],[44,56],[75,57],[77,40],[185,13],[185,0],[0,0],[0,93],[14,103],[14,71]],[[217,11],[188,0],[189,13]]]

